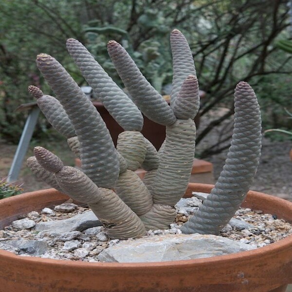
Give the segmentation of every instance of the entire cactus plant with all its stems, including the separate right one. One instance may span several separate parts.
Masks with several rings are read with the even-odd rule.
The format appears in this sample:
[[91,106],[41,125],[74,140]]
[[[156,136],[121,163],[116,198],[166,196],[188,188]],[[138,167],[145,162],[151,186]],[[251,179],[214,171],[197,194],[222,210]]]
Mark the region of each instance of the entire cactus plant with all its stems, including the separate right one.
[[[67,49],[81,73],[117,123],[125,130],[117,146],[88,97],[52,56],[37,56],[37,67],[56,94],[34,86],[29,92],[52,126],[62,133],[81,159],[82,170],[63,165],[53,153],[35,147],[27,161],[46,183],[87,203],[110,238],[141,237],[148,229],[168,228],[176,216],[191,174],[199,107],[199,85],[189,45],[179,30],[170,36],[173,87],[168,105],[117,42],[108,43],[110,58],[129,92],[125,94],[77,40]],[[166,126],[157,151],[141,134],[143,116]],[[260,154],[260,112],[256,95],[245,82],[235,91],[235,129],[226,165],[210,196],[187,222],[184,233],[218,234],[244,199]],[[144,168],[143,181],[135,173]]]

